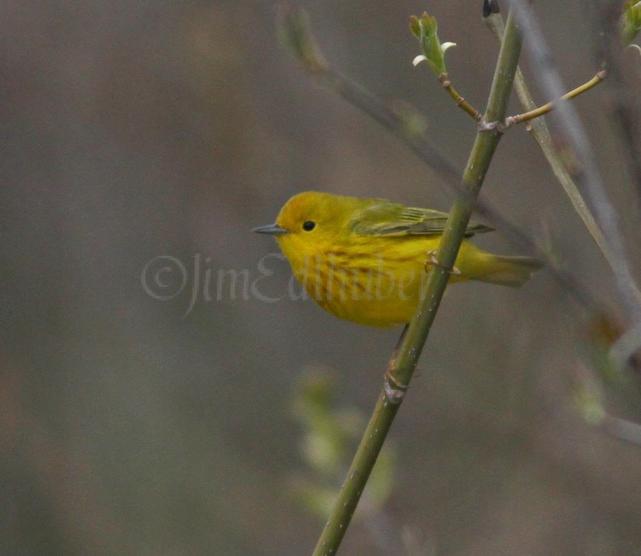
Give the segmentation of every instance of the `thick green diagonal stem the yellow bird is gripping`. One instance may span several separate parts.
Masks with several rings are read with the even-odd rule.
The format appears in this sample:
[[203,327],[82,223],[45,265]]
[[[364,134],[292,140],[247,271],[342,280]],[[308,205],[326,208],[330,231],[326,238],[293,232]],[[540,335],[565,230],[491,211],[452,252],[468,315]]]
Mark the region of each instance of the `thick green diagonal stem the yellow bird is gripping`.
[[[521,38],[514,17],[510,13],[485,113],[486,122],[503,121],[505,117],[520,52]],[[501,135],[497,129],[477,133],[469,163],[463,174],[462,188],[455,197],[446,230],[441,239],[438,252],[441,264],[431,267],[425,286],[425,295],[419,304],[416,316],[409,323],[407,333],[401,336],[398,351],[391,358],[385,375],[384,389],[352,461],[330,519],[318,539],[314,556],[333,556],[341,544],[393,418],[396,416],[400,402],[403,401],[405,390],[412,379],[416,363],[447,286],[449,270],[453,268],[464,231],[500,138]]]

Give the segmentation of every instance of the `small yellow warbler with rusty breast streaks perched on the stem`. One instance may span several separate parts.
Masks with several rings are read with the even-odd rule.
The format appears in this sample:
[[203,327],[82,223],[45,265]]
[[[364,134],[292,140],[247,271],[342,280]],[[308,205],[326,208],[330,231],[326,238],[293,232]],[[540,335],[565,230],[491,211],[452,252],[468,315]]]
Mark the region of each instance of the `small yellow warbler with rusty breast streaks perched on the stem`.
[[[309,191],[291,197],[272,234],[295,277],[326,311],[360,325],[409,322],[424,291],[426,266],[438,264],[447,214],[384,199]],[[466,237],[492,228],[470,222]],[[537,259],[500,256],[463,240],[451,281],[521,286],[540,268]]]

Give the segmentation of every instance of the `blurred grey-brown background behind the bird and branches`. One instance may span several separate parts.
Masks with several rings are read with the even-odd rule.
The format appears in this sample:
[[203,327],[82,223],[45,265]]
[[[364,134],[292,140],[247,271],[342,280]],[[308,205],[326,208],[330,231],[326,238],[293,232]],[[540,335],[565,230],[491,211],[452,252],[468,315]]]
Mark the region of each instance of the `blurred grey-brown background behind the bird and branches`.
[[[332,66],[421,108],[462,168],[474,126],[412,67],[407,23],[425,9],[437,17],[441,39],[458,44],[457,89],[483,108],[498,48],[481,2],[305,6]],[[566,82],[589,79],[586,3],[536,9]],[[398,331],[289,300],[278,259],[263,261],[274,273],[260,296],[232,298],[221,271],[260,277],[277,247],[250,229],[300,190],[441,210],[451,193],[279,49],[275,11],[242,0],[0,4],[2,555],[311,553],[323,522],[287,482],[304,466],[295,379],[330,368],[339,403],[371,411]],[[634,60],[624,57],[638,85]],[[604,85],[576,107],[639,261],[612,94]],[[501,142],[484,190],[617,311],[608,267],[524,129]],[[478,243],[514,252],[501,234]],[[355,523],[341,553],[403,554],[409,529],[424,554],[641,554],[641,450],[574,407],[571,377],[590,365],[582,318],[546,271],[519,291],[453,287],[391,431],[385,538]],[[610,409],[640,419],[625,403]]]

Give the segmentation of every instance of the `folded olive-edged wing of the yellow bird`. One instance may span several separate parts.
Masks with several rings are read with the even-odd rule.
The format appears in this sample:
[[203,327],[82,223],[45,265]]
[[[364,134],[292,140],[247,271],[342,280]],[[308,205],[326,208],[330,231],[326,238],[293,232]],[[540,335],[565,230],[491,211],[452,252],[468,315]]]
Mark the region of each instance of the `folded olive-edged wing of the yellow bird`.
[[[362,236],[428,236],[442,234],[447,217],[447,213],[432,211],[430,208],[385,202],[359,211],[350,224],[352,231]],[[485,224],[470,222],[465,236],[493,229]]]

